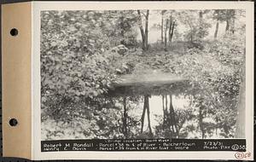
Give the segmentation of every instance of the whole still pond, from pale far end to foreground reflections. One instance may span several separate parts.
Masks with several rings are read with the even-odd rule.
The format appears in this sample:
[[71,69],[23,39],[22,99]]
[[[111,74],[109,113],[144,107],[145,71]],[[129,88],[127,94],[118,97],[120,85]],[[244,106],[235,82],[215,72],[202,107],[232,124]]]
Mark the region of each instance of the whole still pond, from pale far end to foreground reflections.
[[[42,122],[42,136],[46,140],[234,138],[236,118],[229,114],[236,111],[203,107],[198,93],[188,80],[172,74],[124,76],[106,95],[63,103],[68,108]],[[67,114],[68,118],[58,118]]]

